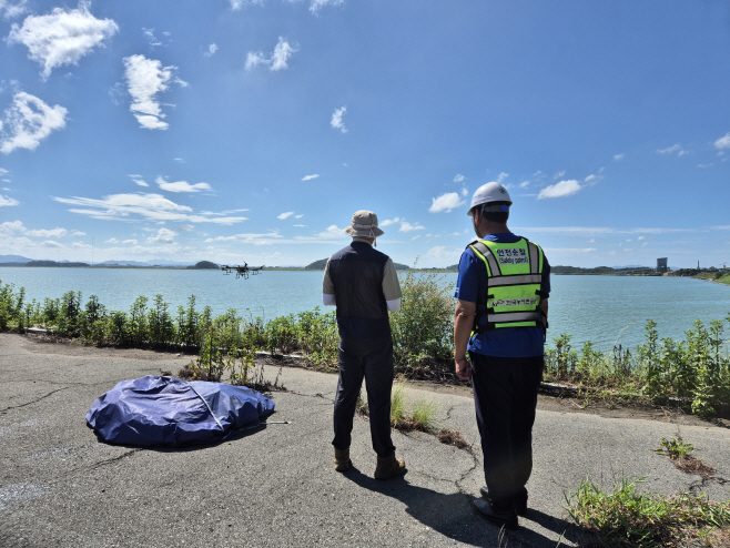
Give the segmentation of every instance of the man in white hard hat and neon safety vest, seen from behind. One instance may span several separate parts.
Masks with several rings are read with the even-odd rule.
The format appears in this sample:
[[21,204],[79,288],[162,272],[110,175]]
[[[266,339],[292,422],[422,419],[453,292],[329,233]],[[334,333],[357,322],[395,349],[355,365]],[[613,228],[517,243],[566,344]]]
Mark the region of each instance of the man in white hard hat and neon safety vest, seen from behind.
[[477,240],[462,254],[454,321],[456,375],[472,379],[484,451],[487,485],[474,507],[506,529],[527,513],[550,292],[540,246],[507,227],[511,204],[499,183],[474,193],[468,215]]

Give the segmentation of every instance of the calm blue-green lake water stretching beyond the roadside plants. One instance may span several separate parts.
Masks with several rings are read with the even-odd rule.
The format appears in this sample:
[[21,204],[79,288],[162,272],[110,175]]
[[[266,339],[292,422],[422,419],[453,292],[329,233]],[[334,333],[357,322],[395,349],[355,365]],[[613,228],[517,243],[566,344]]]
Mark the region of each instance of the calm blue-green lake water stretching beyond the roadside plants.
[[[456,274],[444,280],[456,282]],[[0,281],[26,287],[28,301],[81,291],[84,304],[97,295],[108,308],[124,312],[140,295],[152,301],[156,294],[171,311],[195,295],[197,309],[207,305],[222,314],[235,308],[245,318],[271,319],[322,306],[322,272],[264,271],[236,280],[221,271],[0,267]],[[569,334],[575,347],[592,341],[609,352],[618,341],[633,351],[643,342],[648,318],[658,323],[660,338],[683,339],[696,319],[709,324],[730,314],[730,286],[701,280],[554,275],[550,281],[548,341]],[[730,329],[726,333],[730,337]]]

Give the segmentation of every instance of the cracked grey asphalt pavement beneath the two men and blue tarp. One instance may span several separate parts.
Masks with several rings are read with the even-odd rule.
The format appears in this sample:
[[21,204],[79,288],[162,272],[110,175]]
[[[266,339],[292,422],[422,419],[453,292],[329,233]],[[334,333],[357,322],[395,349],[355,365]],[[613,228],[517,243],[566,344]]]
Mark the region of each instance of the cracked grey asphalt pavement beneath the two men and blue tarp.
[[[176,373],[190,356],[49,344],[0,334],[0,547],[197,546],[575,546],[564,494],[590,476],[610,487],[643,477],[649,491],[707,491],[730,499],[730,483],[686,475],[653,451],[661,437],[696,447],[730,478],[730,429],[614,418],[540,405],[534,429],[530,509],[509,534],[476,516],[481,453],[468,393],[408,388],[438,403],[440,427],[474,451],[433,435],[394,433],[408,473],[373,479],[365,419],[355,420],[354,469],[332,465],[336,376],[284,367],[270,424],[214,446],[183,450],[101,444],[85,425],[97,397],[119,380]],[[277,368],[267,366],[273,376]]]

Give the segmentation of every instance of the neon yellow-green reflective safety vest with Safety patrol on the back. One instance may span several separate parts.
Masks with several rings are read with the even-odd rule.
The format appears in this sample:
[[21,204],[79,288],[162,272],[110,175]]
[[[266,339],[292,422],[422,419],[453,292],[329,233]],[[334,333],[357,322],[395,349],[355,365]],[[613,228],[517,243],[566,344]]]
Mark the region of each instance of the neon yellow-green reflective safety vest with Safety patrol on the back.
[[543,327],[538,306],[543,283],[543,250],[521,239],[513,243],[479,240],[469,244],[487,267],[487,322],[476,331]]

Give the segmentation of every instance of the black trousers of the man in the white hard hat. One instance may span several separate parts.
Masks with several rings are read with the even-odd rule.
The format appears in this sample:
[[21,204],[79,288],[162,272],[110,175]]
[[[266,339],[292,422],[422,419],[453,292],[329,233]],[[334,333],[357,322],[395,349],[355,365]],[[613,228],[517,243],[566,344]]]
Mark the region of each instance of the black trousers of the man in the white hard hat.
[[533,473],[533,425],[543,356],[504,358],[469,353],[484,477],[497,509],[527,500]]

